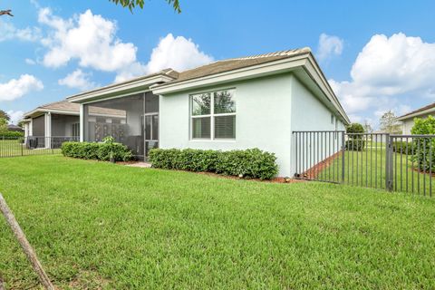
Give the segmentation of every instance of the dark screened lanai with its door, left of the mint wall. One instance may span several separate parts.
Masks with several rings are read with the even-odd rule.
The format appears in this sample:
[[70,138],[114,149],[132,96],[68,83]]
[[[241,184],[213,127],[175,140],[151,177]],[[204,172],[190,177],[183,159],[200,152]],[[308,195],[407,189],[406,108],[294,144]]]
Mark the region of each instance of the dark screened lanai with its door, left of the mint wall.
[[85,141],[111,136],[140,160],[159,146],[159,96],[137,93],[83,105]]

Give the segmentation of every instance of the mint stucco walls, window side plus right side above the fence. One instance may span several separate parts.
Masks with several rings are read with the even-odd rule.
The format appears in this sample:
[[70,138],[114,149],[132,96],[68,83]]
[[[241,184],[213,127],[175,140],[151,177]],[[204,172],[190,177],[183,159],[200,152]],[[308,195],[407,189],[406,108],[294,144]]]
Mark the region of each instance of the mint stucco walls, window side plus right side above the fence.
[[[236,140],[191,140],[189,95],[235,89]],[[331,112],[291,73],[160,96],[160,148],[274,152],[279,176],[295,174],[292,131],[334,130]],[[343,124],[339,124],[342,130]]]

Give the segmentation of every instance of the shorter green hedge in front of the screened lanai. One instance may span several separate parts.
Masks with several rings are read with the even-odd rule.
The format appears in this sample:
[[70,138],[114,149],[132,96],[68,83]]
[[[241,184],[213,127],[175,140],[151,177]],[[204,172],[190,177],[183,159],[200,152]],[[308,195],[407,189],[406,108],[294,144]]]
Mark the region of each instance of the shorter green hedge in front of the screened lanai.
[[96,143],[96,142],[63,142],[62,154],[82,160],[111,160],[129,161],[133,159],[131,150],[120,143]]

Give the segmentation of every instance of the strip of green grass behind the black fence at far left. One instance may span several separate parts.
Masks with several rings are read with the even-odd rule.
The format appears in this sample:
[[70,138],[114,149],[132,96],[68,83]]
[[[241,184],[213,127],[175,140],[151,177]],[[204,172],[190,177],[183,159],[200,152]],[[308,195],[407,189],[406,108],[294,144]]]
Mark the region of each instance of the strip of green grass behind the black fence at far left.
[[30,156],[30,155],[47,155],[47,154],[60,154],[60,149],[28,149],[23,143],[22,139],[16,140],[1,140],[0,137],[0,158],[3,157],[16,157],[16,156]]

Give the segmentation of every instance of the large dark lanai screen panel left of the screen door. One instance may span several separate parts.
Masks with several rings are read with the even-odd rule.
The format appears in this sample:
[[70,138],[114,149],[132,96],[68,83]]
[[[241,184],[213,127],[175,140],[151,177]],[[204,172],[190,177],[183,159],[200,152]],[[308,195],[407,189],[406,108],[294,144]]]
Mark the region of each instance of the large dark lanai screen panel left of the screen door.
[[136,157],[143,159],[143,114],[143,93],[86,104],[84,140],[99,142],[111,136],[116,142],[127,145]]

